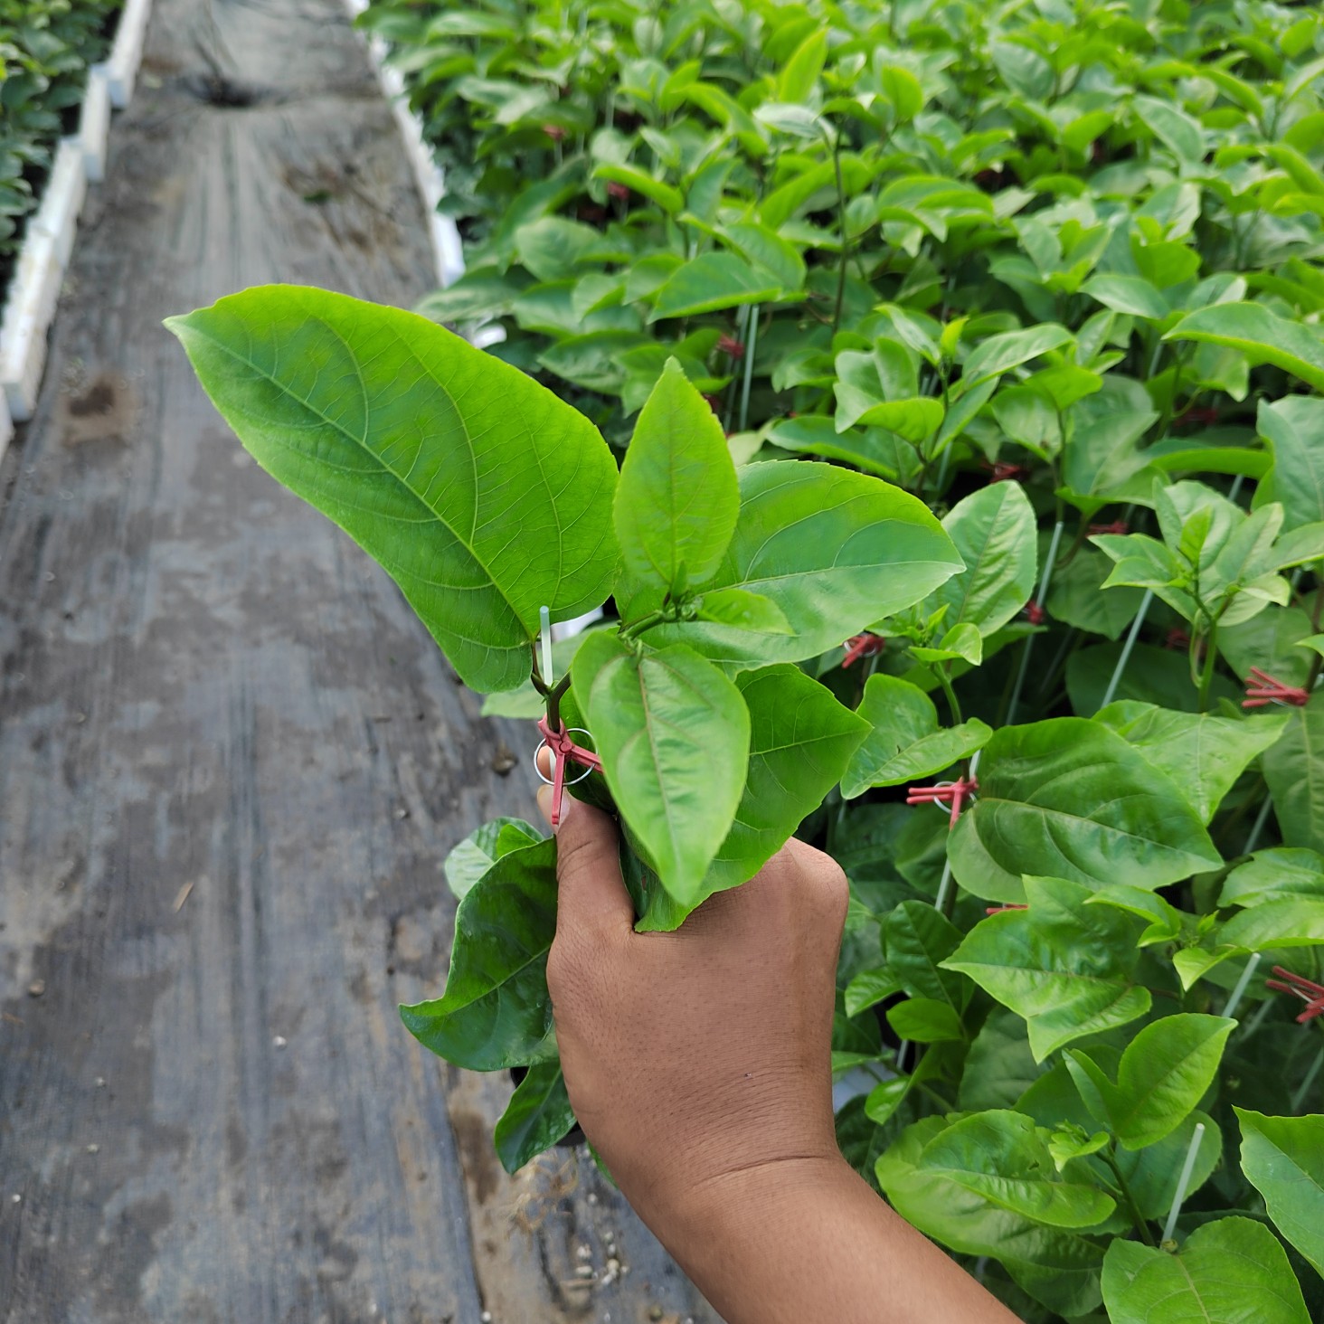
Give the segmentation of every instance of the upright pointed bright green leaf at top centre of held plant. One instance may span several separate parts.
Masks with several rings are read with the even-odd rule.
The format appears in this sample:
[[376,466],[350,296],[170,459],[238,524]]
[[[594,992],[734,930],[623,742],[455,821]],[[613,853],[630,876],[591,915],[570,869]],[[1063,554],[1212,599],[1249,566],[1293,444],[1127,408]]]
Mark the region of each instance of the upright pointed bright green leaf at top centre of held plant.
[[639,412],[613,510],[628,621],[711,579],[731,543],[736,467],[722,424],[675,359]]

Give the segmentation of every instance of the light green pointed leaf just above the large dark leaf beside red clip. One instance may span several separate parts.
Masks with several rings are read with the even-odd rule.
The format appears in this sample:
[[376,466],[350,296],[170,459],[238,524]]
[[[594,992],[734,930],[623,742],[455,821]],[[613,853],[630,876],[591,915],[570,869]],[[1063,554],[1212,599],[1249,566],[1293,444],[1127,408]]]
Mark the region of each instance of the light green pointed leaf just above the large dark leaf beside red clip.
[[1116,731],[1168,773],[1207,825],[1251,760],[1283,733],[1287,714],[1217,718],[1123,700],[1095,714],[1095,722]]

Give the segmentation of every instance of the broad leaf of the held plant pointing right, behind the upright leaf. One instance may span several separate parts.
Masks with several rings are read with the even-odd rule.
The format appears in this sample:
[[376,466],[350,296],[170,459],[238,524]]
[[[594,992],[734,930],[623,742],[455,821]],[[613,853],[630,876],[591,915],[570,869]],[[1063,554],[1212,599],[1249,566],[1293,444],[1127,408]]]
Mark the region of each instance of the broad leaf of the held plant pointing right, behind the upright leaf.
[[712,581],[699,587],[768,597],[792,633],[691,622],[647,638],[685,639],[740,666],[800,662],[918,602],[961,567],[920,502],[867,474],[790,462],[745,465],[739,478],[735,536]]

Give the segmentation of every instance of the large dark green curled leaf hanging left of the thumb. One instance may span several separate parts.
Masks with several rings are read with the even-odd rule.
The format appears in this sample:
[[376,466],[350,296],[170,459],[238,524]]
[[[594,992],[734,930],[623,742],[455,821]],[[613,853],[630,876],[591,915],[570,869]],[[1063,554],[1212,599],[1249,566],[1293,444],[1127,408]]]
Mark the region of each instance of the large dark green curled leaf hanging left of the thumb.
[[400,1008],[425,1049],[470,1071],[556,1057],[547,953],[556,936],[556,839],[502,855],[455,912],[446,990]]

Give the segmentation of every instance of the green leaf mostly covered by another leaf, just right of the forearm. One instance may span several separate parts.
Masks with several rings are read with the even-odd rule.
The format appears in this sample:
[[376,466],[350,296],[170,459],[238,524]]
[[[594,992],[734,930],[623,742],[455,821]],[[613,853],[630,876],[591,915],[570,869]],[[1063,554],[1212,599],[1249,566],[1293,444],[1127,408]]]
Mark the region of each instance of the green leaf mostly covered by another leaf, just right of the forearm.
[[1045,1227],[992,1204],[920,1158],[948,1123],[925,1117],[907,1127],[878,1160],[878,1182],[891,1206],[922,1233],[967,1255],[1002,1262],[1035,1299],[1066,1315],[1086,1315],[1099,1303],[1100,1247],[1079,1233]]

